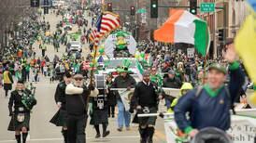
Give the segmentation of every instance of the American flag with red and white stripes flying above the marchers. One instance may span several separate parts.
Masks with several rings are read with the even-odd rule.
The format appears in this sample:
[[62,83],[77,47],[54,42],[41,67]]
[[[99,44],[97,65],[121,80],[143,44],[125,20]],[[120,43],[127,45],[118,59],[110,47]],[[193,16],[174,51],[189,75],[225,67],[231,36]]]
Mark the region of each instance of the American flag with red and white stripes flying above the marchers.
[[90,38],[95,44],[97,44],[102,36],[119,28],[120,26],[121,21],[118,15],[110,12],[104,13],[99,16],[96,22],[96,29],[92,30]]

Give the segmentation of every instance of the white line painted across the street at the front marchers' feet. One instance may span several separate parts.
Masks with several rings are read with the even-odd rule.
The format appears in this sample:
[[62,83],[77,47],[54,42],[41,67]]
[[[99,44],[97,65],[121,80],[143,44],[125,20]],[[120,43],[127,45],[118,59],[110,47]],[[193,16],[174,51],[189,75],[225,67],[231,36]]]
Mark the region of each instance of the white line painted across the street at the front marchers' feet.
[[[139,136],[107,136],[105,138],[97,138],[97,140],[108,140],[108,139],[115,139],[115,138],[139,138]],[[87,137],[86,139],[96,139],[95,137]],[[28,141],[53,141],[53,140],[63,140],[63,138],[37,138],[37,139],[30,139]],[[7,142],[16,142],[16,140],[0,140],[0,143],[7,143]]]

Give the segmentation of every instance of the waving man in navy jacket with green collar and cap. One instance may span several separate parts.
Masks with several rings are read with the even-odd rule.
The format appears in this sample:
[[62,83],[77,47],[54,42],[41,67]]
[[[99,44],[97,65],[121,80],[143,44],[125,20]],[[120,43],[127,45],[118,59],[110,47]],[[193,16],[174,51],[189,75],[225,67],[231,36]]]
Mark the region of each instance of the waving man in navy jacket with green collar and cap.
[[[229,71],[219,63],[212,63],[208,67],[206,84],[178,99],[174,109],[175,121],[184,133],[194,137],[206,127],[216,127],[222,131],[230,128],[230,109],[234,110],[235,98],[245,79],[236,57],[234,45],[227,45],[224,58],[229,62]],[[227,73],[230,81],[225,85]]]

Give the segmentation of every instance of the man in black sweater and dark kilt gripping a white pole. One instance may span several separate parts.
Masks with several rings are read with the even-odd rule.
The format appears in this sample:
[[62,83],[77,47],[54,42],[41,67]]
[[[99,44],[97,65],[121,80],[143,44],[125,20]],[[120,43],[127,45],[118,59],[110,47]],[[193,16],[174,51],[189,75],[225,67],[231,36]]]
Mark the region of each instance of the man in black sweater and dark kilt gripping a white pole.
[[[157,87],[150,83],[149,72],[145,71],[143,81],[135,86],[131,106],[136,108],[137,113],[156,113],[158,101],[162,98],[163,96],[157,92]],[[138,118],[141,143],[152,143],[155,122],[156,117]]]

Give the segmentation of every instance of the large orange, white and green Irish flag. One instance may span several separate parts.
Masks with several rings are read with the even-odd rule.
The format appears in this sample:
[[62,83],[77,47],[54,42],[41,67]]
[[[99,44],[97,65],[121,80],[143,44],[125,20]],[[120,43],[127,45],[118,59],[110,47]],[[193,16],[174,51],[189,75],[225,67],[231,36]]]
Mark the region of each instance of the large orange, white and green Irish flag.
[[154,39],[164,43],[192,44],[203,56],[206,56],[210,42],[206,21],[182,9],[171,10],[169,19],[154,32]]

